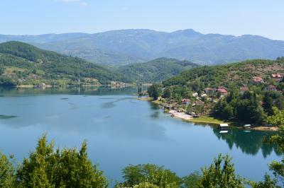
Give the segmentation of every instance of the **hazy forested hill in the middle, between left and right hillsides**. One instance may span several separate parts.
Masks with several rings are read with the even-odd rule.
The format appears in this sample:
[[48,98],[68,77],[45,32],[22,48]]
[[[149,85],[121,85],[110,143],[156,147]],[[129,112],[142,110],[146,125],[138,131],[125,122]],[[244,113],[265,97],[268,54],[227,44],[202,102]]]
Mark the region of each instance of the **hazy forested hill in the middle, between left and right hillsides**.
[[185,69],[191,69],[196,66],[198,65],[190,61],[159,58],[146,63],[119,66],[116,71],[131,78],[133,81],[153,83],[164,81],[167,78],[180,74],[180,72],[184,71]]

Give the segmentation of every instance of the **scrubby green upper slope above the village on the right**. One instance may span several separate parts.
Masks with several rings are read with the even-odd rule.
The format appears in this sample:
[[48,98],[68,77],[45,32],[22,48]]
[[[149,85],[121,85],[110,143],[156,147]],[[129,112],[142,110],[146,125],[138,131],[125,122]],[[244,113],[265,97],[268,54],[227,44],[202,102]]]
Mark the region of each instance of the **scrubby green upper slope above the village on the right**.
[[190,86],[191,88],[216,88],[231,85],[244,86],[253,83],[253,77],[269,81],[271,74],[284,73],[284,58],[276,60],[254,59],[219,66],[200,66],[183,71],[178,76],[163,81],[164,86]]

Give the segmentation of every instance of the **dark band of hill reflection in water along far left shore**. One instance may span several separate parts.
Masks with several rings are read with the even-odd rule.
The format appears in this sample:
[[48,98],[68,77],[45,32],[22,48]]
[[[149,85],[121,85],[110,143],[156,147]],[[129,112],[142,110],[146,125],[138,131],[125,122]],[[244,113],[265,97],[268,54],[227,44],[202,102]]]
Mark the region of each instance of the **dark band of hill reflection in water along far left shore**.
[[132,95],[137,93],[136,87],[62,87],[62,88],[0,88],[0,97],[21,94],[28,95],[50,95],[50,94],[70,94],[70,95]]

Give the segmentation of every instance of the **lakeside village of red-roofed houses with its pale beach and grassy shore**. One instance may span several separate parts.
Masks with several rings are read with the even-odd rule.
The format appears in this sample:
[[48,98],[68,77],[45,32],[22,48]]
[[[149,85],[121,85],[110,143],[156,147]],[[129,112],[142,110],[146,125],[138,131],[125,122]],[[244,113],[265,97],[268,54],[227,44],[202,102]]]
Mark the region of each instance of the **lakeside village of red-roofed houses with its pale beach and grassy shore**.
[[[283,74],[271,74],[271,79],[275,82],[280,82],[283,80]],[[253,77],[252,83],[264,83],[266,84],[267,91],[274,91],[281,93],[273,83],[266,83],[261,77]],[[241,95],[249,91],[248,86],[242,86],[239,88]],[[238,122],[226,122],[222,119],[215,119],[210,116],[210,112],[214,104],[218,102],[219,99],[224,98],[228,95],[228,88],[224,86],[219,86],[217,88],[204,88],[202,93],[192,93],[192,98],[182,98],[180,101],[169,100],[162,97],[158,97],[157,100],[151,100],[151,98],[139,98],[140,100],[150,100],[163,108],[164,112],[171,114],[172,117],[180,118],[187,122],[203,123],[218,125],[220,128],[224,124],[229,124],[232,127],[244,128],[244,129],[255,129],[260,131],[278,131],[278,127],[272,127],[269,124],[264,126],[251,126],[251,124],[239,124]],[[147,93],[143,93],[147,95]],[[262,102],[263,103],[263,102]],[[261,104],[263,105],[263,104]],[[226,126],[225,126],[226,127]]]

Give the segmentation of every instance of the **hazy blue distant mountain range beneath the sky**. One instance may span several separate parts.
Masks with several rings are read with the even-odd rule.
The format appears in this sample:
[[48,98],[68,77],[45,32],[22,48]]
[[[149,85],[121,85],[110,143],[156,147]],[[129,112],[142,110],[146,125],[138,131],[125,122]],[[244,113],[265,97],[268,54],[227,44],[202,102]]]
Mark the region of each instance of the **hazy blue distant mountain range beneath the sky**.
[[42,49],[81,57],[99,64],[122,65],[159,57],[198,64],[223,64],[245,59],[275,59],[284,55],[284,41],[256,35],[219,35],[178,30],[112,30],[104,33],[0,35],[0,42],[18,40]]

